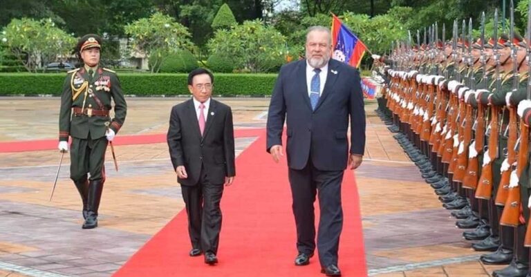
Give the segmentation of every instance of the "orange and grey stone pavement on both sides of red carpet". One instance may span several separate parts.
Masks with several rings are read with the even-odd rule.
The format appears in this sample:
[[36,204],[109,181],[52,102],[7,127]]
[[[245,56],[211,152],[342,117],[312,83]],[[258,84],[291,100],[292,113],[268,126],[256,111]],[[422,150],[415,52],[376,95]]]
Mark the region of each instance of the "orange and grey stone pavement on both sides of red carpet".
[[[171,106],[183,100],[128,98],[118,135],[165,133]],[[221,101],[232,106],[236,128],[265,126],[269,99]],[[0,142],[55,140],[58,107],[57,97],[0,97]],[[478,262],[481,253],[469,248],[374,108],[366,105],[366,157],[356,171],[369,275],[490,276],[503,267]],[[237,139],[237,153],[254,139]],[[68,155],[49,202],[59,153],[0,153],[0,277],[111,276],[183,209],[165,143],[115,146],[115,151],[120,171],[108,159],[100,226],[94,230],[81,229]]]

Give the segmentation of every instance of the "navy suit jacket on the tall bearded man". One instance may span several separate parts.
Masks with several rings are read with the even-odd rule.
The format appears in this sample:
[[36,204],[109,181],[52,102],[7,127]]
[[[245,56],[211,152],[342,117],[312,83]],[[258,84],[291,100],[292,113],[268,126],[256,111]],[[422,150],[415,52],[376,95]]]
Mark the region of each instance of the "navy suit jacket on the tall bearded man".
[[282,66],[268,113],[267,151],[282,144],[284,120],[288,127],[288,166],[304,169],[311,157],[319,170],[346,169],[347,129],[351,120],[350,153],[363,155],[365,111],[360,73],[330,59],[323,93],[312,111],[306,84],[306,59]]

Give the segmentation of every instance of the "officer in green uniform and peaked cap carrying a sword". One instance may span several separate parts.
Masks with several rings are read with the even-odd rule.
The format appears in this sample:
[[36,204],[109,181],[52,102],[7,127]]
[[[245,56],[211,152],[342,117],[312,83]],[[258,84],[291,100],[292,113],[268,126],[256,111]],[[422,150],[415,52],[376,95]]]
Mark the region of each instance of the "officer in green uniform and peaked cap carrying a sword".
[[68,151],[68,137],[72,137],[70,178],[83,202],[83,229],[97,227],[105,151],[127,113],[118,76],[100,66],[101,48],[102,39],[97,35],[85,35],[78,41],[75,52],[82,66],[68,72],[59,112],[59,151]]

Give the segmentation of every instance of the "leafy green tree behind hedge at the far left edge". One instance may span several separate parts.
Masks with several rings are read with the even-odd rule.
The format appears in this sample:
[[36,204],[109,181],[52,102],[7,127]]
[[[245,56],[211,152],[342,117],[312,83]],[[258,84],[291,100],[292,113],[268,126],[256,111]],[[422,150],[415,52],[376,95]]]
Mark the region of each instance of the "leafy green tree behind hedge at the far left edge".
[[75,38],[57,28],[52,19],[13,19],[4,28],[1,41],[30,72],[68,56],[75,45]]

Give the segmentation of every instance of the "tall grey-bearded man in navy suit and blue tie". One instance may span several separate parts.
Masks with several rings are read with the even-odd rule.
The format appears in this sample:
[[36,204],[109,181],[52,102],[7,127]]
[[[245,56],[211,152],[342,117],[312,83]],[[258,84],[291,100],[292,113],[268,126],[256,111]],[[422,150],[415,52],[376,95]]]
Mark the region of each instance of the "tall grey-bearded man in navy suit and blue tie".
[[313,202],[318,193],[319,262],[322,273],[339,276],[341,183],[347,165],[356,169],[362,163],[365,112],[360,73],[330,59],[331,52],[330,30],[315,26],[306,35],[306,59],[282,66],[269,106],[267,151],[275,162],[283,155],[281,135],[286,120],[286,154],[299,251],[295,265],[308,265],[315,251]]

